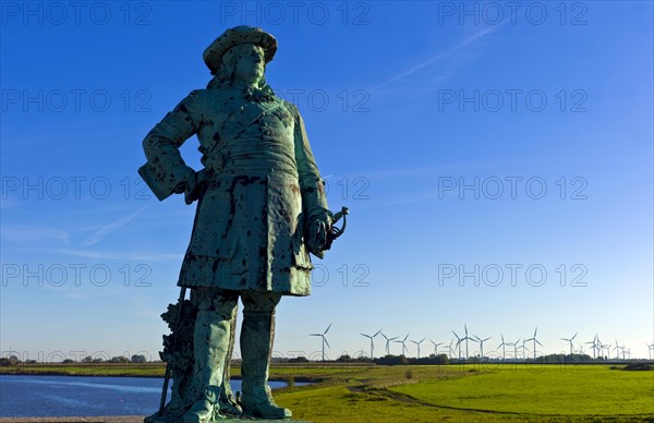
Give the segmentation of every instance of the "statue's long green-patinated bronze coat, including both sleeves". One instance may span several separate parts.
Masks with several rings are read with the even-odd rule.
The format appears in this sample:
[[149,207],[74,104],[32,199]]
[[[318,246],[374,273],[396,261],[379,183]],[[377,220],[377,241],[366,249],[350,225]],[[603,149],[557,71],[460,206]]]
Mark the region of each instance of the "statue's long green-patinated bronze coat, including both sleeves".
[[192,92],[143,141],[157,183],[195,178],[178,149],[193,134],[208,184],[178,285],[310,294],[305,233],[329,211],[295,106],[235,89]]

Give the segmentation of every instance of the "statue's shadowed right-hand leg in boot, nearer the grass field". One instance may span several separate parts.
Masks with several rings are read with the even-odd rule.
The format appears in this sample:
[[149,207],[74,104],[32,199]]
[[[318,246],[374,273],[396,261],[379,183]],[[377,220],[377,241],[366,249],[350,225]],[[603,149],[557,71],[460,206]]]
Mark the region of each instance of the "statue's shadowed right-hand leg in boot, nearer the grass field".
[[272,292],[241,292],[243,300],[241,406],[246,415],[264,419],[291,416],[290,410],[275,403],[268,386],[268,366],[275,337],[275,306],[280,298],[280,294]]

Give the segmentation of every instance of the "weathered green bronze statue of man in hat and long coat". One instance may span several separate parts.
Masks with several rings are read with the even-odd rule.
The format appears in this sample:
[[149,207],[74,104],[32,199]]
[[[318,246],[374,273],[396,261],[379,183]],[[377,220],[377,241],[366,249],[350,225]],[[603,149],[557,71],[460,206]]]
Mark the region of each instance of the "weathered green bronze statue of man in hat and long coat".
[[[157,197],[184,193],[187,204],[197,201],[178,283],[191,289],[196,311],[190,376],[196,394],[183,404],[184,421],[219,416],[221,392],[230,391],[223,372],[239,298],[242,412],[291,415],[267,384],[275,307],[282,295],[310,294],[308,253],[322,258],[328,249],[332,214],[296,107],[264,78],[276,50],[261,28],[225,32],[204,52],[214,75],[208,87],[192,92],[143,141],[147,164],[140,173]],[[194,134],[199,172],[179,153]]]

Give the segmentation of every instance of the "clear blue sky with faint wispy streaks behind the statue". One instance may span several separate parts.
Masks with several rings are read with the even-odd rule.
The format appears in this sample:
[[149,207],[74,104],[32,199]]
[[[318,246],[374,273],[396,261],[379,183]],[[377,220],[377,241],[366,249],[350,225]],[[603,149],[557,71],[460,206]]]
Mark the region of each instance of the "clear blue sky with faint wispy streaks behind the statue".
[[652,3],[85,4],[2,2],[3,354],[156,358],[194,207],[145,190],[141,141],[245,23],[277,37],[267,81],[351,211],[279,305],[277,354],[317,358],[329,324],[330,359],[465,324],[487,353],[537,327],[538,354],[579,331],[647,355]]

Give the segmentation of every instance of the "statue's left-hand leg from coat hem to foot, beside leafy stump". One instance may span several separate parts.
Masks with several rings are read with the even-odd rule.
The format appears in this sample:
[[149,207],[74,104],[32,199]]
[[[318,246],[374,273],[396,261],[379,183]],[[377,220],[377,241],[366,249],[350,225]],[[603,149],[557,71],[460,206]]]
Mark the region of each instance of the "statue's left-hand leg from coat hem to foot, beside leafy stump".
[[218,288],[194,288],[191,301],[197,307],[193,333],[193,390],[199,392],[199,398],[183,419],[184,422],[204,423],[214,421],[219,414],[217,403],[238,295]]

